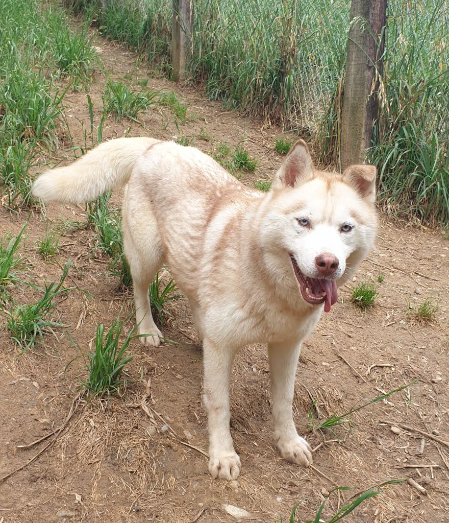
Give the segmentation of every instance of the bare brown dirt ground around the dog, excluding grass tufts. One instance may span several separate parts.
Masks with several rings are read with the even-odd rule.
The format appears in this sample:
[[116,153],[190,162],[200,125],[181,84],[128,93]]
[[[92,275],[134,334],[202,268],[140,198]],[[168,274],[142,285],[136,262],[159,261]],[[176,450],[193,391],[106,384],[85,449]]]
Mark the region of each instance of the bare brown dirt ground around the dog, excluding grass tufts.
[[[261,122],[211,103],[199,89],[152,78],[145,63],[124,48],[99,37],[96,44],[106,75],[130,78],[134,85],[150,76],[148,87],[175,90],[188,105],[187,123],[179,130],[170,111],[155,106],[140,118],[141,124],[109,118],[104,139],[125,133],[171,139],[183,133],[205,151],[220,140],[244,143],[259,163],[243,181],[252,186],[274,175],[282,160],[273,151],[280,129],[261,130]],[[105,74],[98,72],[89,88],[97,123]],[[68,93],[65,105],[73,142],[61,123],[60,149],[42,154],[42,169],[71,161],[71,147],[84,146],[85,137],[91,144],[85,93]],[[210,139],[200,138],[202,128]],[[115,204],[119,200],[120,195],[113,196]],[[27,212],[1,207],[0,233],[17,234],[27,218]],[[304,344],[294,410],[300,434],[316,448],[315,468],[279,458],[272,440],[266,349],[251,346],[241,352],[231,404],[242,471],[228,483],[208,474],[201,347],[183,298],[169,305],[172,316],[164,327],[176,344],[148,349],[132,340],[134,359],[128,370],[133,383],[123,397],[101,402],[80,398],[84,357],[96,324],[110,325],[118,314],[125,318],[133,302],[132,294],[117,290],[118,280],[107,274],[105,259],[92,254],[91,230],[66,232],[52,260],[39,256],[37,241],[61,218],[85,221],[84,207],[49,206],[47,215],[30,215],[21,251],[26,266],[20,274],[43,286],[59,279],[66,260],[72,259],[66,285],[74,288],[56,311],[76,347],[58,331],[57,338],[48,335],[21,354],[9,337],[5,314],[0,315],[0,477],[43,451],[0,480],[1,523],[236,521],[223,504],[244,508],[255,521],[265,522],[289,520],[297,505],[296,521],[306,521],[315,518],[334,486],[353,487],[331,494],[322,516],[328,521],[351,496],[396,478],[415,480],[425,492],[408,482],[393,485],[345,521],[449,521],[449,242],[438,231],[383,217],[377,250],[356,277],[376,282],[374,308],[356,309],[349,300],[350,286],[345,286],[339,303]],[[380,273],[384,281],[377,283]],[[18,303],[40,296],[27,285],[11,287],[10,293]],[[421,324],[407,314],[408,307],[428,298],[438,301],[439,311],[435,321]],[[128,328],[132,325],[133,320]],[[323,419],[343,414],[413,381],[408,389],[353,414],[352,426],[336,427],[335,433],[310,431],[310,412]],[[392,425],[400,430],[392,431]]]

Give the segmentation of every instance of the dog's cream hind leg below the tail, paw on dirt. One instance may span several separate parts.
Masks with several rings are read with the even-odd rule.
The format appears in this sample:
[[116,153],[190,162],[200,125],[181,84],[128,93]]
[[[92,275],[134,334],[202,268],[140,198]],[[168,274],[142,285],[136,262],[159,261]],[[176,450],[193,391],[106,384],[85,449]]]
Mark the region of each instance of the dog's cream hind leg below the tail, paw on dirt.
[[133,279],[137,333],[143,345],[158,347],[163,335],[153,320],[148,287],[164,263],[163,245],[151,209],[129,193],[123,205],[122,228],[124,253]]

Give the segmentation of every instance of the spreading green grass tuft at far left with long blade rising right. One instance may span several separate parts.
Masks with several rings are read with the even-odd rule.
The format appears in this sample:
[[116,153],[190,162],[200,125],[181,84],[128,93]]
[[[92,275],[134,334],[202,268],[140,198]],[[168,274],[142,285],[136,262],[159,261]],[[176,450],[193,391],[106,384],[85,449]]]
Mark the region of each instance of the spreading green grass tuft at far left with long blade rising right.
[[59,282],[45,285],[42,298],[31,305],[19,305],[13,311],[4,310],[7,315],[6,327],[11,338],[22,351],[34,347],[44,334],[55,335],[55,328],[64,328],[60,321],[53,319],[56,298],[63,297],[69,289],[62,286],[70,267],[66,263]]

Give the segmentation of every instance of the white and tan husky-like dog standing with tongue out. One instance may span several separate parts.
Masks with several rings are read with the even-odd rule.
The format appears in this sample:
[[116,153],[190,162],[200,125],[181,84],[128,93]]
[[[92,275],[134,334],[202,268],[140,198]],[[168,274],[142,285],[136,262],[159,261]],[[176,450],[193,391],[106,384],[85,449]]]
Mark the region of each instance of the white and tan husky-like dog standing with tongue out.
[[209,471],[231,480],[240,459],[229,430],[229,376],[236,352],[251,343],[268,344],[281,456],[312,463],[292,415],[301,342],[373,246],[375,176],[371,165],[320,172],[299,140],[264,194],[193,147],[120,138],[44,173],[32,192],[78,203],[128,184],[123,241],[139,333],[148,335],[140,339],[154,346],[162,339],[148,286],[167,263],[203,340]]

